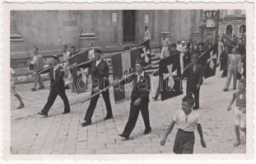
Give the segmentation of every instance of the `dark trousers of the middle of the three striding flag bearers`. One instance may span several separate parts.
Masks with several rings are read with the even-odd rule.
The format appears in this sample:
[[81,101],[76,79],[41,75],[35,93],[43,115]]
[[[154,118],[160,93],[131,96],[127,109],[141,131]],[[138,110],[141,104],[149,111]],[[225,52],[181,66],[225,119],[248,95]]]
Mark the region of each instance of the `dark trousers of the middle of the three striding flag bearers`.
[[[91,91],[91,95],[94,93],[96,93],[96,92]],[[102,92],[101,94],[104,98],[105,106],[107,108],[107,116],[113,116],[112,107],[111,107],[111,103],[109,100],[109,89],[107,89],[105,92]],[[94,98],[91,98],[90,106],[88,107],[88,109],[86,111],[86,117],[84,119],[85,121],[91,121],[91,117],[93,115],[93,112],[95,110],[95,107],[97,105],[99,97],[100,97],[100,94],[98,94]]]

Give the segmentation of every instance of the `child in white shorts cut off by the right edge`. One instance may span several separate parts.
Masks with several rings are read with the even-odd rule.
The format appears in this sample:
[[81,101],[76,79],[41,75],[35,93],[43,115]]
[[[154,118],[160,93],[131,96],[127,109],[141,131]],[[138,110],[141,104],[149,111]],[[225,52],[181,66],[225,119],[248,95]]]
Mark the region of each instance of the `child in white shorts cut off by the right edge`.
[[228,111],[231,110],[232,104],[235,102],[235,136],[236,142],[234,146],[240,145],[240,130],[244,131],[246,137],[246,81],[242,79],[238,84],[238,91],[233,93]]

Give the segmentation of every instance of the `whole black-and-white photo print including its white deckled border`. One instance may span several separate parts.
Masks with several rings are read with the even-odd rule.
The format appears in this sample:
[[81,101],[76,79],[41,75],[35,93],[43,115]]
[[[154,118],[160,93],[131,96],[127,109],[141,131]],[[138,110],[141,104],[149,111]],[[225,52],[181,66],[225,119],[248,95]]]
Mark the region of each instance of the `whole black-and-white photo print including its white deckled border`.
[[250,157],[249,4],[19,5],[5,40],[9,156]]

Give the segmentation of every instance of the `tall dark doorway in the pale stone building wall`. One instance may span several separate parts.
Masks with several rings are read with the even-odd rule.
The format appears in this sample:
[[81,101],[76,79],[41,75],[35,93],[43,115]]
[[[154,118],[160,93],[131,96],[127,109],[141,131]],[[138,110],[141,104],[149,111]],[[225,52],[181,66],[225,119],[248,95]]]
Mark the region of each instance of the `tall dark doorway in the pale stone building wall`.
[[135,11],[123,11],[123,42],[135,42]]

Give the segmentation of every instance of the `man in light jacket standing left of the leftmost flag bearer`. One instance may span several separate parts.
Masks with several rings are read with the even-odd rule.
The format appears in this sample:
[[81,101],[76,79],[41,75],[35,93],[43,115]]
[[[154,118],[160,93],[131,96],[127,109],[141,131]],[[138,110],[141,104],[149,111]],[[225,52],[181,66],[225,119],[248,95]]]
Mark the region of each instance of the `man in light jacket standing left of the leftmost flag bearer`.
[[35,91],[37,88],[37,83],[40,84],[39,89],[44,89],[44,83],[41,79],[41,75],[38,74],[38,71],[41,71],[44,69],[44,61],[43,57],[38,54],[38,48],[33,48],[33,57],[30,59],[30,71],[33,71],[34,76],[34,87],[31,89],[31,91]]

